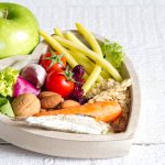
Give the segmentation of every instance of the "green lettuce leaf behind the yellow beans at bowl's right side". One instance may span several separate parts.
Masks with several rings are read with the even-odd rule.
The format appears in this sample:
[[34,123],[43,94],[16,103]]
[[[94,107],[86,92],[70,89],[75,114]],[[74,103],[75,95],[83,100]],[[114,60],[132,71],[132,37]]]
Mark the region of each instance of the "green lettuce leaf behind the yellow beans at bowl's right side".
[[105,58],[120,70],[123,63],[123,50],[118,43],[111,43],[108,40],[101,44],[101,51]]

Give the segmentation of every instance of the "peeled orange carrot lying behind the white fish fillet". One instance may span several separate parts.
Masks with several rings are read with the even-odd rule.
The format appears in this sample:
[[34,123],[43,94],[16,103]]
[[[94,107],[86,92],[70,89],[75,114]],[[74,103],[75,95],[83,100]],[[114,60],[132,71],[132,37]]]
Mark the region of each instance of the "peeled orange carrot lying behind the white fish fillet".
[[96,118],[103,122],[110,122],[117,119],[122,112],[121,106],[117,101],[102,101],[88,103],[84,106],[70,107],[67,109],[43,111],[36,113],[35,117],[41,116],[56,116],[56,114],[85,114]]

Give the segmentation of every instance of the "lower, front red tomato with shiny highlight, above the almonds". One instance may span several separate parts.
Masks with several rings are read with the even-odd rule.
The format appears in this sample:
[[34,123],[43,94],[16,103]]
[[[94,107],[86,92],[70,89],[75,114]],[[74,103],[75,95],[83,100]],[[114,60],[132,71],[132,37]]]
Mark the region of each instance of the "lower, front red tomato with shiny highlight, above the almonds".
[[[67,78],[65,72],[51,72],[46,78],[46,89],[67,97],[74,90],[75,82]],[[69,76],[68,76],[69,77]]]

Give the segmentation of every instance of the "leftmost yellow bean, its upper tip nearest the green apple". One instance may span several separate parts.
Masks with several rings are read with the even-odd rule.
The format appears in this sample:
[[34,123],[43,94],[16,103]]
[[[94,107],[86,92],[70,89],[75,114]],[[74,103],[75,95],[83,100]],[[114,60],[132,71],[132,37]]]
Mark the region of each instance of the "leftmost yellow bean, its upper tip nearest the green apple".
[[67,63],[72,66],[75,67],[78,65],[78,63],[75,61],[75,58],[68,53],[68,51],[63,47],[57,40],[55,40],[53,36],[48,35],[44,31],[38,31],[38,33],[44,37],[44,40],[57,52],[64,53]]

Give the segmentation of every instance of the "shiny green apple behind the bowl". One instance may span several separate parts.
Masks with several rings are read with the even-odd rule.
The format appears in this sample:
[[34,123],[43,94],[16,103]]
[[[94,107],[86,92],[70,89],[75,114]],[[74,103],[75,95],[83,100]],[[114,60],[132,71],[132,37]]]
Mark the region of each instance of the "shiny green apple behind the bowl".
[[0,2],[0,58],[25,55],[40,41],[38,23],[26,8]]

